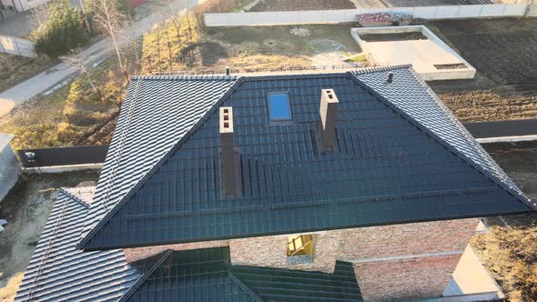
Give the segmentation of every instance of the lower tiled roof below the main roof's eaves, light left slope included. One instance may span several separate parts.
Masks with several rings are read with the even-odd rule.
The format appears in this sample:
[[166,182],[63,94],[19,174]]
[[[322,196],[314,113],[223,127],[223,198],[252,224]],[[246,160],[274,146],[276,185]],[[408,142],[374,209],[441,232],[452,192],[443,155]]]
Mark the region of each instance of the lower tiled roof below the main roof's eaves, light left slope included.
[[15,301],[274,301],[281,288],[291,287],[300,297],[361,299],[347,262],[325,274],[232,267],[228,247],[167,250],[131,263],[122,250],[81,251],[76,239],[93,192],[95,187],[60,190]]

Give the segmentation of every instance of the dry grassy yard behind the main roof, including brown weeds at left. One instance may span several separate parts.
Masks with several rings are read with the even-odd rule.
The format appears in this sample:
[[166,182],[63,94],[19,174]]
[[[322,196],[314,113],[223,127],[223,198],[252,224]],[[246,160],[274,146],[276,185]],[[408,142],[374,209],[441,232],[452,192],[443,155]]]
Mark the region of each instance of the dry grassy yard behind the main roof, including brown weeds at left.
[[[363,62],[360,47],[350,36],[352,25],[300,26],[309,35],[291,34],[295,26],[194,28],[189,39],[186,16],[181,19],[182,34],[167,22],[144,36],[144,73],[182,71],[234,71],[279,69],[312,65],[343,65]],[[179,42],[177,42],[179,41]],[[169,42],[169,46],[168,46]],[[160,49],[159,46],[160,45]],[[149,63],[147,57],[151,58]]]

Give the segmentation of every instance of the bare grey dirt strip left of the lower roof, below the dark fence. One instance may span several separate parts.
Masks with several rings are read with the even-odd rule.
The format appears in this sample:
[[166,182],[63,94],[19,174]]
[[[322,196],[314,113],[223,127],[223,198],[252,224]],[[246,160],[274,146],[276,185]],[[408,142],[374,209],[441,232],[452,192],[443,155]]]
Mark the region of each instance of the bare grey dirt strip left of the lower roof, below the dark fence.
[[0,301],[11,301],[15,297],[58,188],[95,182],[98,172],[36,175],[21,179],[0,203],[0,218],[8,222],[5,231],[0,233]]

